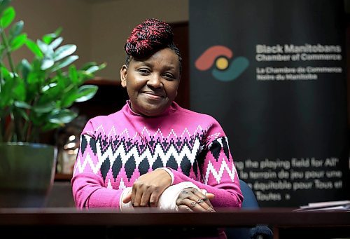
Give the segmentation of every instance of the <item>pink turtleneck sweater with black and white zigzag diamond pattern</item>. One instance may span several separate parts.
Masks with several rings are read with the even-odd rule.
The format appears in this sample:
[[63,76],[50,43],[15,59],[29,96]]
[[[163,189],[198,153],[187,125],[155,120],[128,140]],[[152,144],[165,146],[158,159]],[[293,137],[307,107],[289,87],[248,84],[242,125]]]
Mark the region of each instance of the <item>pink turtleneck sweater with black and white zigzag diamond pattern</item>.
[[173,102],[145,117],[125,104],[90,119],[80,135],[71,185],[76,206],[119,209],[123,189],[146,172],[167,167],[174,183],[193,182],[215,195],[214,207],[240,207],[239,179],[221,125],[211,116]]

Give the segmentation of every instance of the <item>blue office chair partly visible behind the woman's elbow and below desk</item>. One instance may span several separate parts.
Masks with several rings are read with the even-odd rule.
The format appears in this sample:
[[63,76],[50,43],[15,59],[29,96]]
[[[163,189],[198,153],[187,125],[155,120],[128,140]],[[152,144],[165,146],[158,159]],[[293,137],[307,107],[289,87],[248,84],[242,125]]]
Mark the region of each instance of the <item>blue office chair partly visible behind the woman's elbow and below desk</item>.
[[[253,190],[244,182],[239,179],[239,185],[241,186],[241,192],[244,196],[242,208],[258,209],[258,200],[255,197]],[[257,225],[254,227],[243,228],[226,228],[225,230],[228,239],[272,239],[273,233],[268,226]]]

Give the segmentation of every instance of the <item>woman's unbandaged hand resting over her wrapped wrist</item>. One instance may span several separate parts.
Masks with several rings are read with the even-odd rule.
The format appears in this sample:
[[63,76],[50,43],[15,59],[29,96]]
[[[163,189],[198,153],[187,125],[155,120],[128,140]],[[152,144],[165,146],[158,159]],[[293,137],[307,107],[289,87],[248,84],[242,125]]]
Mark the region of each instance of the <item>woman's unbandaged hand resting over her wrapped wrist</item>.
[[172,177],[165,170],[154,170],[140,176],[132,186],[132,192],[123,203],[132,201],[134,207],[157,207],[162,192],[172,184]]

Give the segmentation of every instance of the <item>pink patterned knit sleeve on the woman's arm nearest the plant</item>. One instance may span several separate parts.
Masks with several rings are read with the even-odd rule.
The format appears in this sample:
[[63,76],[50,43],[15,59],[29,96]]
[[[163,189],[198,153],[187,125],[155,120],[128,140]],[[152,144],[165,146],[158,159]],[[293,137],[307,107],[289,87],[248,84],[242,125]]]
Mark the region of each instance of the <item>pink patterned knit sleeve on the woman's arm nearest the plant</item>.
[[71,186],[76,207],[114,207],[119,209],[123,190],[104,186],[104,172],[100,168],[92,123],[87,123],[80,135],[80,147],[74,165]]

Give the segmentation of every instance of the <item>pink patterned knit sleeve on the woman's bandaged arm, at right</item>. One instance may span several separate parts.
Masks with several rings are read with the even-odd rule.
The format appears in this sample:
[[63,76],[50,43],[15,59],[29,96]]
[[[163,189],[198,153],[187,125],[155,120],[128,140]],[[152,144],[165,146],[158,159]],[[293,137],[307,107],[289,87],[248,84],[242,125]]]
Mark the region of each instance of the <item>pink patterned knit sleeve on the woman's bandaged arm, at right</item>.
[[218,123],[209,129],[205,141],[205,146],[196,158],[202,180],[192,179],[172,169],[174,184],[188,181],[208,193],[213,193],[215,197],[211,203],[214,207],[241,207],[243,196],[237,170],[228,146],[228,138]]

